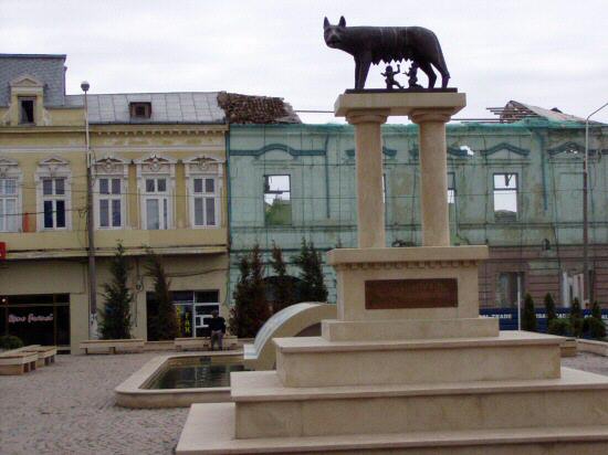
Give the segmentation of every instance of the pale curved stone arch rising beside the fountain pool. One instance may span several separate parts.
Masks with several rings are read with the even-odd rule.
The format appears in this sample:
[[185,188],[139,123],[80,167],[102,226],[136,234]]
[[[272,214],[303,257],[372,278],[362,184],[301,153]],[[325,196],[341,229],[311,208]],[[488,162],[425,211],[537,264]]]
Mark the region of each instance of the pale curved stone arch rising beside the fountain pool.
[[336,319],[333,304],[302,303],[274,314],[262,326],[253,345],[244,346],[244,364],[250,370],[272,370],[276,361],[273,338],[318,336],[323,319]]

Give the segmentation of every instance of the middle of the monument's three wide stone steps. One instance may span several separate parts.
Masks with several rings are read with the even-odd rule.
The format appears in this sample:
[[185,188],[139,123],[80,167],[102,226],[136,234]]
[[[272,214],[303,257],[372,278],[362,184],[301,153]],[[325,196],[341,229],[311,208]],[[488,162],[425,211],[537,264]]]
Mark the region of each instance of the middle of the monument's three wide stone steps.
[[235,435],[339,434],[608,425],[608,378],[391,387],[284,388],[272,372],[233,373]]

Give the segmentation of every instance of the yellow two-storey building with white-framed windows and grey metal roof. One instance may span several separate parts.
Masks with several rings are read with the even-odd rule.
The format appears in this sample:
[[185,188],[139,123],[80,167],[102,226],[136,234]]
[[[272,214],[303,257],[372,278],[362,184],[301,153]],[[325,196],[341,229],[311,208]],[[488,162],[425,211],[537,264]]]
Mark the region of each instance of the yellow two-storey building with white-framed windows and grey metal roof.
[[[83,95],[65,55],[0,54],[0,335],[76,352],[88,338]],[[224,113],[217,93],[87,95],[97,301],[117,242],[129,256],[133,336],[154,311],[146,248],[161,256],[182,335],[227,313]]]

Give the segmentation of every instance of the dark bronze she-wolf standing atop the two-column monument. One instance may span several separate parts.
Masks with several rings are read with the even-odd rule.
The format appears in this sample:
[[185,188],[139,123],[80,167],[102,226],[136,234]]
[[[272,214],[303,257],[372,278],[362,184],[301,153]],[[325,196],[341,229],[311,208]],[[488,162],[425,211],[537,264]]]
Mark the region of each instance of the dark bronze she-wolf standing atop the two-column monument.
[[[346,27],[344,15],[337,25],[327,18],[323,23],[325,43],[355,57],[355,89],[363,89],[369,66],[380,61],[390,63],[411,60],[415,72],[420,68],[434,87],[434,66],[441,74],[441,87],[448,86],[450,73],[436,34],[422,27]],[[432,66],[431,66],[432,65]]]

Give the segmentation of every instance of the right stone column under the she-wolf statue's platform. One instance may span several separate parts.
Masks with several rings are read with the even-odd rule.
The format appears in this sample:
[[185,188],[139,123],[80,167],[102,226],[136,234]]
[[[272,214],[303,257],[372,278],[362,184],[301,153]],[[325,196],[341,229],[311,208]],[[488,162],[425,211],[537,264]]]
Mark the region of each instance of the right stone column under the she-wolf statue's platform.
[[453,110],[415,109],[410,119],[420,127],[420,210],[422,245],[450,246],[445,123]]

